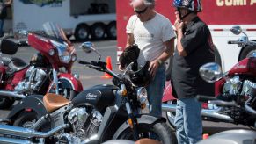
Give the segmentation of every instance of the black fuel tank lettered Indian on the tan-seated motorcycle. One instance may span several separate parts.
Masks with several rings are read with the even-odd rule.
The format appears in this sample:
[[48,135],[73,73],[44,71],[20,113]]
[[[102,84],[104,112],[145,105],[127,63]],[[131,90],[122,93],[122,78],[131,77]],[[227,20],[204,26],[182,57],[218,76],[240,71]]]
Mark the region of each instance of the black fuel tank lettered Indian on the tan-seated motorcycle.
[[96,85],[83,92],[80,92],[77,97],[72,100],[74,106],[93,105],[99,111],[106,106],[114,104],[113,90],[117,90],[114,85]]

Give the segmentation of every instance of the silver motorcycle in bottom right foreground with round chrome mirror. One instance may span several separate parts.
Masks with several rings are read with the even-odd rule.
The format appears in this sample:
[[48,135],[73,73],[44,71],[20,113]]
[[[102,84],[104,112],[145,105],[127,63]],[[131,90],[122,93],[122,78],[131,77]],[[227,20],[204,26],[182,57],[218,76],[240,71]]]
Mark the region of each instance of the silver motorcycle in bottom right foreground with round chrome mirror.
[[[201,76],[207,82],[212,82],[217,79],[222,78],[223,74],[221,71],[221,67],[216,63],[208,63],[201,67]],[[239,100],[239,98],[244,98],[243,96],[219,96],[219,97],[207,97],[207,96],[198,96],[199,101],[207,101],[209,104],[217,104],[221,106],[234,106],[236,109],[242,109],[243,112],[250,113],[250,117],[254,119],[256,118],[256,111],[251,108],[251,106],[247,105],[244,100]],[[246,142],[245,142],[246,141]],[[201,140],[198,144],[216,144],[216,143],[251,143],[254,144],[256,142],[256,131],[255,130],[245,130],[245,129],[233,129],[224,131],[221,133],[215,133],[209,136],[205,140]]]

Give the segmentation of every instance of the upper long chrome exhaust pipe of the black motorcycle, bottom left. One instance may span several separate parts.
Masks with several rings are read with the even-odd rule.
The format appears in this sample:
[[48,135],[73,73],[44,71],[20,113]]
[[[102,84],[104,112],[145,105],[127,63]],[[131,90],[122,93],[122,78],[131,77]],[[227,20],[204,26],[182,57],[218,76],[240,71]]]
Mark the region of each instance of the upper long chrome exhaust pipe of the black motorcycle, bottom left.
[[47,133],[43,133],[19,126],[0,125],[0,133],[4,135],[14,135],[24,138],[47,138],[67,127],[69,127],[68,124],[63,124],[61,126],[55,127]]

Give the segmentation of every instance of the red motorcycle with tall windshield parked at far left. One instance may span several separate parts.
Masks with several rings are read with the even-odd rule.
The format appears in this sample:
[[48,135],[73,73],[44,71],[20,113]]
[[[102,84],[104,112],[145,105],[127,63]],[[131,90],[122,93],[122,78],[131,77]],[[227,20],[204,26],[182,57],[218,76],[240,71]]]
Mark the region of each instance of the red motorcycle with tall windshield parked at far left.
[[[51,92],[71,99],[83,90],[78,76],[71,74],[77,59],[75,48],[63,40],[65,37],[58,25],[48,22],[43,27],[45,33],[20,32],[27,36],[28,44],[39,51],[29,63],[1,55],[0,109],[9,108],[15,100],[33,94]],[[10,40],[2,40],[0,47],[3,54],[15,54],[18,50]]]

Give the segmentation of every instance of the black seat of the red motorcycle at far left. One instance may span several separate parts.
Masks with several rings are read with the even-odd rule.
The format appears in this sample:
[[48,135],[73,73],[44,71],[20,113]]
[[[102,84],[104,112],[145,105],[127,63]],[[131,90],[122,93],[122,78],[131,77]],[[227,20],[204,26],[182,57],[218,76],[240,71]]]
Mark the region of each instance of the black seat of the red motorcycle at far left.
[[8,65],[6,70],[8,74],[12,74],[29,66],[25,61],[18,58],[4,57],[3,61],[5,66]]

